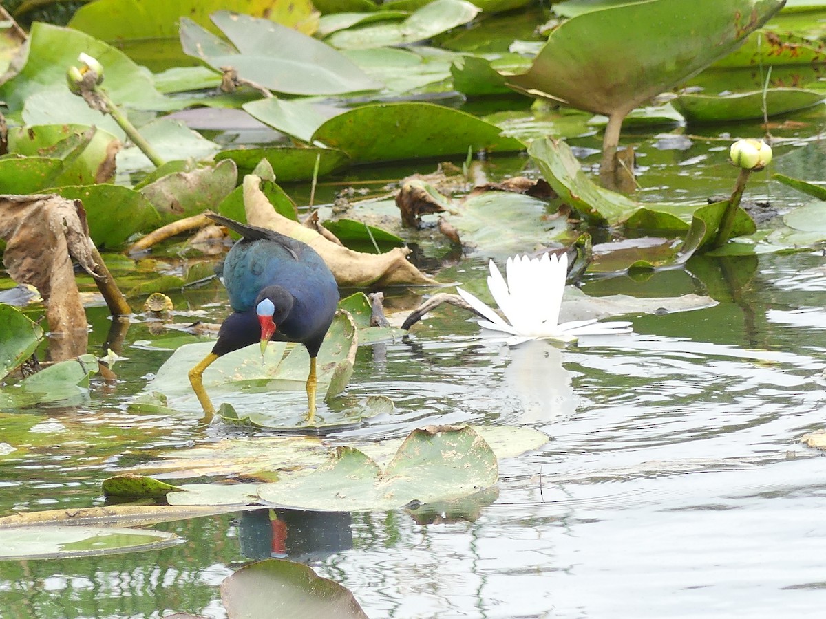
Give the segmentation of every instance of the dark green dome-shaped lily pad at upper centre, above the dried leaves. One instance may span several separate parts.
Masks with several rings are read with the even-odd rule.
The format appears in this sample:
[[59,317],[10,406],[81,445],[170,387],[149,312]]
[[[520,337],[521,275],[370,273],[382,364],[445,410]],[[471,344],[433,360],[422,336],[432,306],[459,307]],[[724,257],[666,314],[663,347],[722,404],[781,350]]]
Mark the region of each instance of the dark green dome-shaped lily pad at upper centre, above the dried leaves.
[[466,112],[432,103],[374,103],[345,111],[316,130],[316,140],[344,150],[355,163],[522,150],[517,139]]

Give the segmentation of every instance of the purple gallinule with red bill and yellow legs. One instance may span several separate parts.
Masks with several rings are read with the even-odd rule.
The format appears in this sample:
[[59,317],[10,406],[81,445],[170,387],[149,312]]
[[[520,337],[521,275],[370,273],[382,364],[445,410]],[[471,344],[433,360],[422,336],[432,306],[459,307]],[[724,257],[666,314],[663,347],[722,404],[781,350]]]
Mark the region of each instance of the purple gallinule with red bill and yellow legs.
[[306,391],[309,417],[316,413],[316,357],[339,302],[339,288],[324,260],[306,243],[273,230],[207,217],[241,235],[224,261],[224,285],[235,311],[218,331],[207,357],[189,371],[189,382],[210,419],[215,409],[204,389],[204,370],[221,355],[270,339],[298,342],[310,353]]

